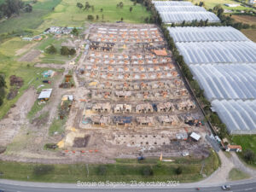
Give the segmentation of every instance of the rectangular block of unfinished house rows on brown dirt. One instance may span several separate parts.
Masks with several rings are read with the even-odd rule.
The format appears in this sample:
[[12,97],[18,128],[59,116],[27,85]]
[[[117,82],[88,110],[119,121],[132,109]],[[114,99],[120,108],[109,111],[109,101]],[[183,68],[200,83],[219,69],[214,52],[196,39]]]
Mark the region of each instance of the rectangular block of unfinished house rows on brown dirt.
[[84,37],[66,155],[208,154],[203,116],[157,26],[92,25]]

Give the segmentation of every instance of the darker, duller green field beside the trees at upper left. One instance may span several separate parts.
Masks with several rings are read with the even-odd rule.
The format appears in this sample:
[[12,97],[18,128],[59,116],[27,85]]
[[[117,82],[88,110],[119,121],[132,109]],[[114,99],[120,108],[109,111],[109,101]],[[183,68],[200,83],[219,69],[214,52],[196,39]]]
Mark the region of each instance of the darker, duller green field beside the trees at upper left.
[[36,29],[44,22],[44,16],[49,15],[52,8],[61,0],[42,0],[33,4],[32,13],[21,13],[18,17],[4,20],[0,23],[0,33],[20,32],[29,29]]

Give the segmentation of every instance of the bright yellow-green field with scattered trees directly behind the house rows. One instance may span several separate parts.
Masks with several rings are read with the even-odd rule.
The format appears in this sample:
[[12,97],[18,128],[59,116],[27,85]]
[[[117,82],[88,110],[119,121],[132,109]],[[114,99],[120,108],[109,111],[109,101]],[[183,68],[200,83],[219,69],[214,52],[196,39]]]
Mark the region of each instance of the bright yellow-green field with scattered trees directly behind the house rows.
[[[102,21],[102,15],[104,15],[103,21],[115,22],[124,18],[125,22],[130,23],[142,23],[142,17],[145,18],[149,15],[149,12],[141,4],[137,3],[133,6],[130,0],[123,0],[124,8],[117,9],[116,5],[119,0],[87,0],[86,2],[93,5],[94,12],[90,9],[88,11],[80,10],[76,4],[85,3],[81,0],[62,0],[61,3],[55,8],[55,11],[44,17],[44,24],[40,28],[45,29],[47,26],[83,26],[84,21],[87,20],[87,15],[99,15],[99,20]],[[130,7],[133,8],[130,12]],[[103,12],[100,10],[103,9]]]

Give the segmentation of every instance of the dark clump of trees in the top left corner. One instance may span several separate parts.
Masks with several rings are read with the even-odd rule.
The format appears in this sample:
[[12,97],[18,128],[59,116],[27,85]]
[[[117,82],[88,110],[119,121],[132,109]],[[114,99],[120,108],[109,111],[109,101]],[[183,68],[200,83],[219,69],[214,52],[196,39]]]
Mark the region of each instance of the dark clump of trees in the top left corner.
[[27,13],[32,12],[32,6],[29,3],[24,3],[21,0],[5,0],[0,5],[0,19],[10,17],[11,15],[20,15],[20,11]]

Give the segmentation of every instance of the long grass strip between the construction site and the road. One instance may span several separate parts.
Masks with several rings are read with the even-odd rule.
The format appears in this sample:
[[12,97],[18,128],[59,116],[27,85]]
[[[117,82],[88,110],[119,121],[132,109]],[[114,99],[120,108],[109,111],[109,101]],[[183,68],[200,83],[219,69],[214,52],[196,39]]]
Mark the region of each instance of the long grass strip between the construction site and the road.
[[[218,168],[217,154],[211,154],[205,160],[207,176]],[[137,160],[117,160],[114,164],[94,165],[53,165],[49,172],[35,174],[36,164],[0,161],[0,172],[5,179],[40,181],[50,183],[77,183],[77,181],[172,181],[195,182],[202,179],[201,161],[183,158],[179,162],[160,162],[158,159],[147,159],[139,163]],[[176,169],[180,166],[182,173],[177,175]],[[148,171],[151,174],[148,174]],[[205,172],[203,172],[205,173]]]

